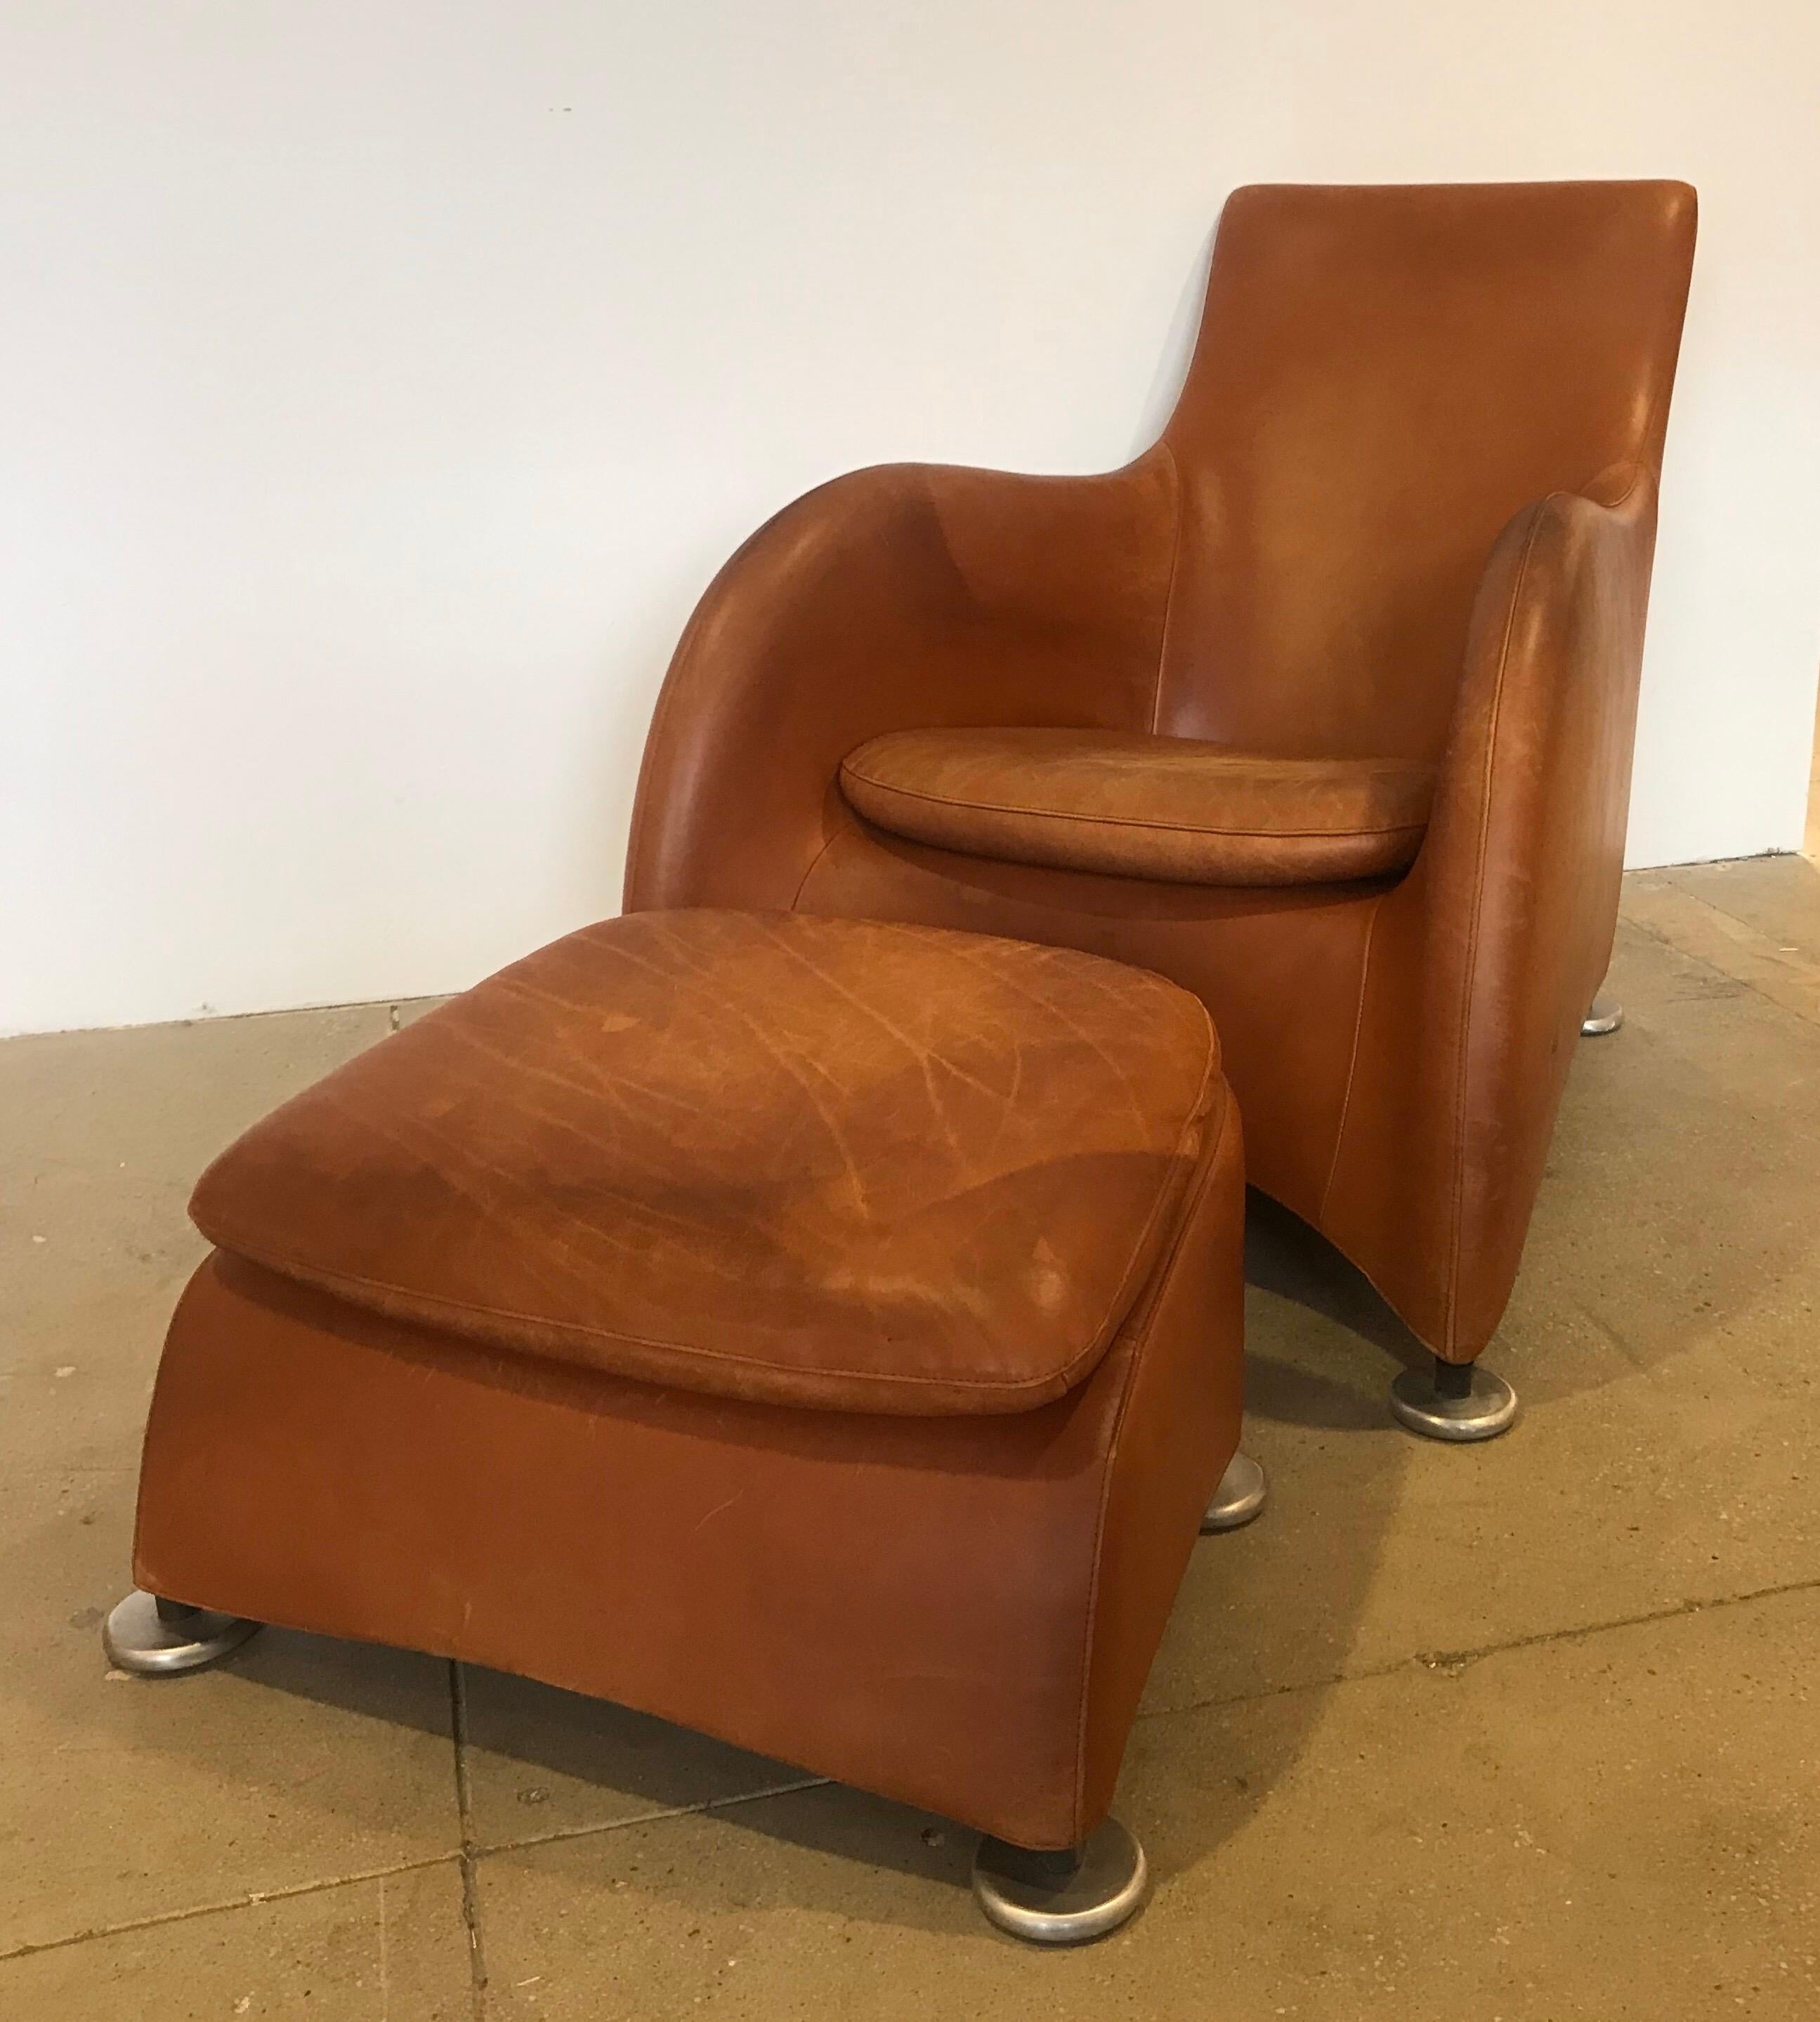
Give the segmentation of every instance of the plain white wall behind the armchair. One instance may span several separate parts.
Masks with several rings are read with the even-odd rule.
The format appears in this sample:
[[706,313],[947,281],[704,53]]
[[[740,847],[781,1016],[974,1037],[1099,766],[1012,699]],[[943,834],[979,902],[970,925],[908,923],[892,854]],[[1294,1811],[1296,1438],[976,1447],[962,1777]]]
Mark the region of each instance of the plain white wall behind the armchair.
[[1794,847],[1816,77],[1810,0],[8,0],[0,1029],[611,912],[722,556],[1124,461],[1248,180],[1699,184],[1632,855]]

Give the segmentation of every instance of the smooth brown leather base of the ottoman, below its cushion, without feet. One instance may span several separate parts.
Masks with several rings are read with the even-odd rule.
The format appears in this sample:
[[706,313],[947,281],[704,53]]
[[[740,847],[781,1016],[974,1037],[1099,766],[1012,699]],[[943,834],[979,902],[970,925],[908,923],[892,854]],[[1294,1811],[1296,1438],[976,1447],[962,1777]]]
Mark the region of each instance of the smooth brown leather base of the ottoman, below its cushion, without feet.
[[135,1577],[1074,1844],[1238,1442],[1244,1159],[1221,1114],[1110,1351],[1017,1413],[647,1385],[216,1254],[160,1365]]

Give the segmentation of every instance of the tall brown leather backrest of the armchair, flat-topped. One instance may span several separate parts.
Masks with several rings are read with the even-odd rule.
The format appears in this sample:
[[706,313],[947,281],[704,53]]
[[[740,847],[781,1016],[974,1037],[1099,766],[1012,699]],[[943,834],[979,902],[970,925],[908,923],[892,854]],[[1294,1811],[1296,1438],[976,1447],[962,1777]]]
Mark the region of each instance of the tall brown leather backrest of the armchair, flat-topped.
[[1165,431],[1157,728],[1438,756],[1500,528],[1654,483],[1693,241],[1678,182],[1236,190]]

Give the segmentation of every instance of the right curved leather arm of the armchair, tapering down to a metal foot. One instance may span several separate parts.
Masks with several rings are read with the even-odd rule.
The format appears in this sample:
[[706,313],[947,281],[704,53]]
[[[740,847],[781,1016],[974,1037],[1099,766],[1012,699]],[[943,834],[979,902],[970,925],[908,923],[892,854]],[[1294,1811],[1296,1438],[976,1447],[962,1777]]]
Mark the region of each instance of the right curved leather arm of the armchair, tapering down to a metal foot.
[[1517,514],[1486,564],[1428,837],[1373,922],[1321,1217],[1454,1361],[1517,1278],[1618,920],[1656,491],[1626,467],[1589,493]]

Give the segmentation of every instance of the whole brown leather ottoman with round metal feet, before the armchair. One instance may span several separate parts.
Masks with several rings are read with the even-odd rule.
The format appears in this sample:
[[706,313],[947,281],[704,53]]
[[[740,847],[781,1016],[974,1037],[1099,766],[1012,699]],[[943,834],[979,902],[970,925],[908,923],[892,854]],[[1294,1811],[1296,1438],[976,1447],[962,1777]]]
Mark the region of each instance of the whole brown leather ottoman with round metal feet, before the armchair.
[[989,1913],[1096,1935],[1238,1444],[1242,1189],[1161,977],[795,914],[570,934],[202,1177],[109,1654],[281,1622],[524,1672],[977,1826]]

